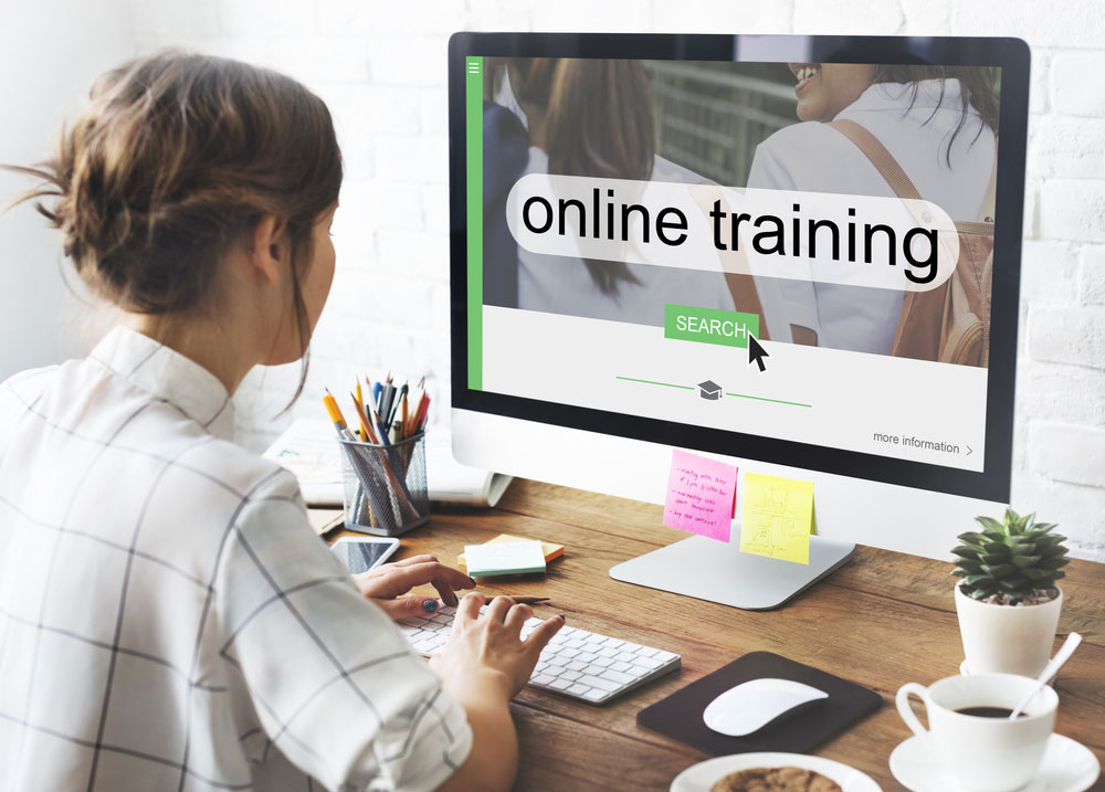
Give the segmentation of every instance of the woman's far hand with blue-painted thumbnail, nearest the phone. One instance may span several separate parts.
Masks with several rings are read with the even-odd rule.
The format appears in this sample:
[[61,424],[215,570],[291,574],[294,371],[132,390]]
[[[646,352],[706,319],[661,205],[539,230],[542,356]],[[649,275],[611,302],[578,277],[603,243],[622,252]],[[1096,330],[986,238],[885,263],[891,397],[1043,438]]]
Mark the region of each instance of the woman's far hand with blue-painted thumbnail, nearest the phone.
[[[394,621],[425,616],[438,610],[432,596],[406,596],[415,585],[432,583],[446,605],[456,604],[456,589],[471,589],[475,581],[433,556],[414,556],[352,577],[357,588]],[[525,620],[523,620],[525,621]]]

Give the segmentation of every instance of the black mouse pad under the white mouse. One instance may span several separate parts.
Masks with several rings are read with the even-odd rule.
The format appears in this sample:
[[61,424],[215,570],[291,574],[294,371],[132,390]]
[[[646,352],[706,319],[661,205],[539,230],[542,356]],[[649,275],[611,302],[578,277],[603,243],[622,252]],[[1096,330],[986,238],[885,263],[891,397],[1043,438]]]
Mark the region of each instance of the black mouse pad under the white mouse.
[[[824,690],[829,698],[793,715],[785,715],[746,737],[720,735],[703,722],[702,712],[715,698],[743,682],[764,677],[801,682]],[[636,715],[636,722],[714,754],[750,751],[806,753],[878,709],[882,703],[882,696],[854,682],[771,652],[749,652],[642,709]]]

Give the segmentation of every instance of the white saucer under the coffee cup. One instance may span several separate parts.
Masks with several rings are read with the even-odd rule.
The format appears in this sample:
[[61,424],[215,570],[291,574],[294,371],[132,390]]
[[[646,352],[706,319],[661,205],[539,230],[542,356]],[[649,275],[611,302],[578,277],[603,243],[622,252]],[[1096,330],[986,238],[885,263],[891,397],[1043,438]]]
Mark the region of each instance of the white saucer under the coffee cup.
[[[937,764],[928,745],[914,735],[891,753],[891,773],[913,792],[960,790]],[[1035,775],[1018,792],[1082,792],[1097,780],[1101,765],[1085,746],[1070,737],[1052,735]]]

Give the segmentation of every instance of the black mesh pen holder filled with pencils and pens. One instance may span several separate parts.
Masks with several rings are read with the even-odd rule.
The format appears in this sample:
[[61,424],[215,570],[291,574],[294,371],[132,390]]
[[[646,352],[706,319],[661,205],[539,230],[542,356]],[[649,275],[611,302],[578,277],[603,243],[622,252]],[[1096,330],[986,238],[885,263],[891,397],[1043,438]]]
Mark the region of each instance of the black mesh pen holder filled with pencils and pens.
[[430,519],[424,432],[390,445],[338,443],[348,529],[399,536]]

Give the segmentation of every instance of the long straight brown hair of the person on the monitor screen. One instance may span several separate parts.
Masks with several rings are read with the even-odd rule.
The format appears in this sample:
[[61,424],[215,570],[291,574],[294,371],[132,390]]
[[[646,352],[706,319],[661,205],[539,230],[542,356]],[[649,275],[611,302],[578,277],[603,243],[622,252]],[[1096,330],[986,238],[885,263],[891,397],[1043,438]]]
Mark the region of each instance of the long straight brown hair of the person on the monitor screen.
[[[640,61],[519,57],[509,61],[518,104],[546,108],[549,173],[646,181],[655,118]],[[623,262],[586,260],[602,294],[640,283]]]

